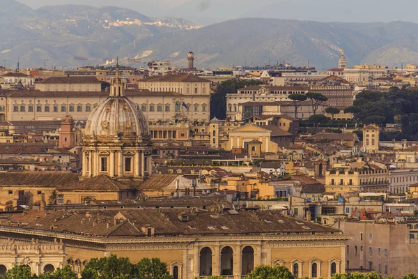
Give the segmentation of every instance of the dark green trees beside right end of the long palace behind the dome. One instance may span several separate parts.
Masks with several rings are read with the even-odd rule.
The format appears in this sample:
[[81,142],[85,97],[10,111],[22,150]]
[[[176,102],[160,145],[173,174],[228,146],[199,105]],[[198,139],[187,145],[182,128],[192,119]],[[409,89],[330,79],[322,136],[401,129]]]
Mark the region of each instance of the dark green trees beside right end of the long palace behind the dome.
[[225,119],[227,93],[237,93],[238,89],[242,89],[245,86],[260,84],[263,84],[263,82],[258,80],[226,80],[218,84],[216,92],[210,96],[210,119],[214,116],[217,119]]

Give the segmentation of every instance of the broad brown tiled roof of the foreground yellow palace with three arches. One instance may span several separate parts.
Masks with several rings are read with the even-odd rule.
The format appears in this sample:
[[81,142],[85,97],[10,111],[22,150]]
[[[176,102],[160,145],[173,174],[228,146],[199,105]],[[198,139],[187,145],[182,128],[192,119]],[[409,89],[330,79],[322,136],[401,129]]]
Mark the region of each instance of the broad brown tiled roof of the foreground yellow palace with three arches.
[[[230,213],[231,212],[231,213]],[[178,216],[185,216],[180,221]],[[249,225],[251,224],[251,225]],[[19,227],[20,233],[47,231],[84,236],[132,239],[146,237],[143,227],[153,227],[155,236],[341,233],[338,229],[282,216],[277,211],[185,211],[184,209],[141,209],[106,211],[29,211],[8,219],[7,227]],[[26,231],[25,229],[30,229]]]

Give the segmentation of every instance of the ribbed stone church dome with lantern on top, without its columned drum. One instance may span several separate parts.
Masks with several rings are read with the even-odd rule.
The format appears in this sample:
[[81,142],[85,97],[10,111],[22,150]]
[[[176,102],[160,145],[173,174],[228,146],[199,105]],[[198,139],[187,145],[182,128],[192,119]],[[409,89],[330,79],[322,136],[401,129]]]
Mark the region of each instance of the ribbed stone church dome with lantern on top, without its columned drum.
[[88,116],[84,136],[148,137],[148,121],[138,105],[125,97],[124,84],[118,72],[110,91],[109,98]]

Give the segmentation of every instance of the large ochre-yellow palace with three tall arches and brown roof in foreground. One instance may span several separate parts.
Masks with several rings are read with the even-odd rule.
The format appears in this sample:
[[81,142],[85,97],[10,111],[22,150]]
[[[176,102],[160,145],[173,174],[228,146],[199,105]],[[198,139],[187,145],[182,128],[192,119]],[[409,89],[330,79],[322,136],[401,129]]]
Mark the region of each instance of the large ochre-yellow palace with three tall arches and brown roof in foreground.
[[[31,252],[31,239],[33,245],[42,239],[45,250]],[[175,279],[241,279],[259,264],[283,264],[296,278],[331,278],[346,271],[348,239],[277,211],[33,210],[0,226],[0,247],[11,251],[3,253],[0,271],[27,264],[39,274],[47,264],[52,270],[70,264],[80,273],[89,259],[114,254],[132,263],[158,257]],[[57,249],[48,251],[53,244]]]

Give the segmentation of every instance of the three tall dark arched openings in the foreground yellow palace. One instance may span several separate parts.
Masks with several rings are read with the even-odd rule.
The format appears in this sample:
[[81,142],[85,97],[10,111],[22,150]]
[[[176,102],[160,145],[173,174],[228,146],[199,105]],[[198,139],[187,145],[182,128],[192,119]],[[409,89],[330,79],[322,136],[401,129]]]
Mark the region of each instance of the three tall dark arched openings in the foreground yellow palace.
[[[234,272],[234,253],[229,246],[222,248],[220,260],[221,276],[232,276]],[[244,276],[254,269],[254,249],[245,246],[241,251],[241,275]],[[212,250],[204,247],[199,254],[199,276],[212,275]],[[174,277],[176,279],[176,277]]]

